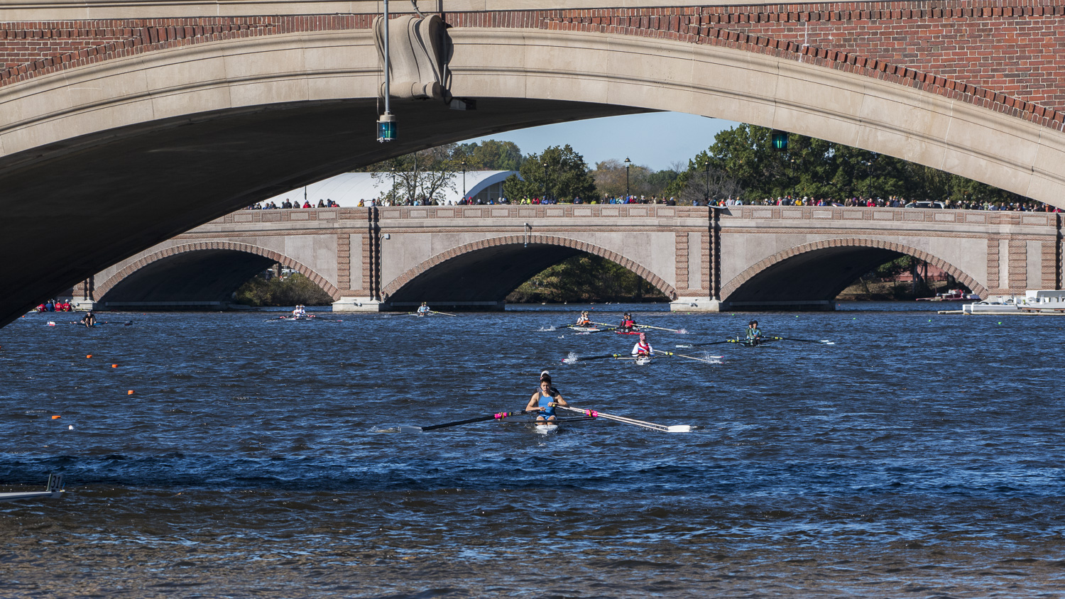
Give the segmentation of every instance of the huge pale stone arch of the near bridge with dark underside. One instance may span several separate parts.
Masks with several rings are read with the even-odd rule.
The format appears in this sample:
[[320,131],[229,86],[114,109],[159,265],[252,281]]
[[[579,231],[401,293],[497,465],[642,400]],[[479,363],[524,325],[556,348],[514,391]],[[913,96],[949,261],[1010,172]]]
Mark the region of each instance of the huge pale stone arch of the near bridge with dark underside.
[[[676,111],[773,127],[1065,205],[1065,134],[905,81],[639,35],[450,35],[452,91],[477,110],[397,99],[402,133],[386,146],[366,124],[380,69],[362,30],[166,46],[0,87],[0,188],[35,199],[5,206],[0,224],[0,252],[33,256],[9,271],[0,323],[125,256],[354,166],[595,116]],[[56,226],[40,204],[83,216]],[[77,261],[70,246],[85,248]]]

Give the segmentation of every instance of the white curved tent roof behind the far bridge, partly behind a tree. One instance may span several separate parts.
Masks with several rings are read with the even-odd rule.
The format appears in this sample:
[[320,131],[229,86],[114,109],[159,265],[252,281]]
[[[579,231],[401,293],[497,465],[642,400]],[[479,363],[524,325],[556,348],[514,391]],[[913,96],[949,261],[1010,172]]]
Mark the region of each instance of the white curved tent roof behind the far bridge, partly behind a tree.
[[[392,188],[392,173],[380,173],[383,177],[374,179],[372,172],[345,172],[317,183],[311,183],[306,187],[307,199],[313,205],[317,205],[318,200],[332,200],[341,206],[357,206],[359,200],[375,200],[389,193]],[[466,196],[472,197],[479,194],[489,185],[494,185],[505,181],[511,174],[518,174],[517,170],[468,170],[465,173]],[[519,176],[520,177],[520,176]],[[462,173],[459,172],[452,180],[455,189],[444,189],[443,203],[457,203],[462,199]],[[281,205],[286,198],[292,201],[304,201],[304,187],[293,189],[288,194],[281,194],[269,198],[262,203],[276,202]]]

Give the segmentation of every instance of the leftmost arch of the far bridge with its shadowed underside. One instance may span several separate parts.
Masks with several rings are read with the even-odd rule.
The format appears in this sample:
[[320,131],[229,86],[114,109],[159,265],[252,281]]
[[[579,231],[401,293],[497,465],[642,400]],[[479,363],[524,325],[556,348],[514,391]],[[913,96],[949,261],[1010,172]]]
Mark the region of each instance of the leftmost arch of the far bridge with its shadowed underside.
[[259,246],[235,242],[197,242],[162,249],[121,268],[96,287],[96,301],[228,301],[231,294],[272,264],[288,266],[310,279],[333,300],[340,290],[309,266]]

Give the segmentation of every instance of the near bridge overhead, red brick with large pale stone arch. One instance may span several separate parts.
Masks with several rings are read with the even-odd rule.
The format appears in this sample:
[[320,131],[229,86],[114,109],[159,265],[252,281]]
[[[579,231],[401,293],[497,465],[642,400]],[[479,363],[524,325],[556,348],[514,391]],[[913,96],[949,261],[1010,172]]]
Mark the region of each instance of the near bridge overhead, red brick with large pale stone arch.
[[392,63],[399,137],[384,146],[373,135],[377,2],[4,4],[0,254],[17,260],[0,325],[176,234],[353,166],[593,116],[666,110],[773,127],[1065,205],[1065,0],[710,4],[423,0],[426,22],[449,27],[429,49],[453,51],[444,65],[404,54],[415,36],[394,44],[406,56]]

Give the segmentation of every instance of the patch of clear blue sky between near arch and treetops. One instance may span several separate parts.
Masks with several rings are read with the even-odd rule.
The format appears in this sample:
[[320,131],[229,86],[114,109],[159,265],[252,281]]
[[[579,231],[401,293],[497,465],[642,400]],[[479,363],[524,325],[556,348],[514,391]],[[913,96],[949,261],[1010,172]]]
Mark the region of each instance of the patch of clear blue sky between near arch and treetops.
[[513,142],[523,154],[539,154],[551,146],[569,144],[585,156],[589,168],[605,160],[628,157],[633,164],[662,170],[678,161],[687,166],[690,159],[714,144],[719,131],[737,124],[684,113],[651,113],[532,127],[470,142]]

